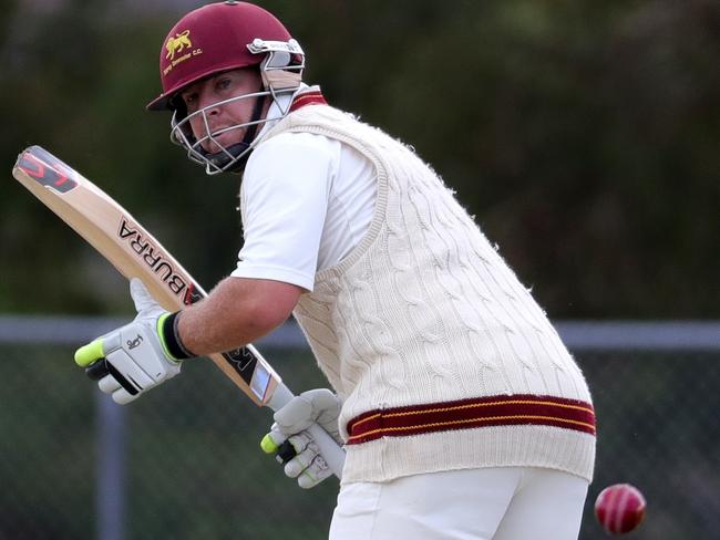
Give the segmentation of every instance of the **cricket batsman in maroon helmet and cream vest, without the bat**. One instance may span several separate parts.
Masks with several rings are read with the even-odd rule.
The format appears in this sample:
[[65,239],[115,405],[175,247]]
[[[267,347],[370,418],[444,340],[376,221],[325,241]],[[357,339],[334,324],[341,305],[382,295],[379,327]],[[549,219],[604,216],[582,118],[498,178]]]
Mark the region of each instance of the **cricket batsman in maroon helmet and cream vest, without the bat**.
[[128,403],[294,314],[329,388],[278,411],[263,447],[311,488],[330,471],[305,429],[344,446],[330,539],[577,539],[596,438],[580,370],[433,169],[335,108],[304,66],[251,3],[171,29],[148,108],[172,114],[172,141],[206,174],[241,174],[245,241],[182,311],[132,283],[138,314],[116,335],[147,346],[114,340],[101,390]]

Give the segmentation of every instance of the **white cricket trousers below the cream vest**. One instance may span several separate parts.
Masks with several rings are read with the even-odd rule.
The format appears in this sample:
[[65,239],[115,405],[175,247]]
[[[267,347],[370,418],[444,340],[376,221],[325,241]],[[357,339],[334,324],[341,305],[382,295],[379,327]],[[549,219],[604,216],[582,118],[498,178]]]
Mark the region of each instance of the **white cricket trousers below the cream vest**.
[[330,540],[577,540],[587,488],[578,476],[533,467],[348,484]]

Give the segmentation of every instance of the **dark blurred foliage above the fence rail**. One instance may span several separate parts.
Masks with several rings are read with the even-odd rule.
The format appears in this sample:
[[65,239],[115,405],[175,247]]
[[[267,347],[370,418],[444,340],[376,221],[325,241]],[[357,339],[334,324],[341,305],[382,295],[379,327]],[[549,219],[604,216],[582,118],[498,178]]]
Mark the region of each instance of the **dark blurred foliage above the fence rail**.
[[[168,143],[172,24],[207,2],[0,11],[0,312],[126,311],[125,284],[12,180],[40,144],[208,285],[235,266],[238,177]],[[306,81],[412,144],[553,318],[718,318],[720,2],[267,0]]]

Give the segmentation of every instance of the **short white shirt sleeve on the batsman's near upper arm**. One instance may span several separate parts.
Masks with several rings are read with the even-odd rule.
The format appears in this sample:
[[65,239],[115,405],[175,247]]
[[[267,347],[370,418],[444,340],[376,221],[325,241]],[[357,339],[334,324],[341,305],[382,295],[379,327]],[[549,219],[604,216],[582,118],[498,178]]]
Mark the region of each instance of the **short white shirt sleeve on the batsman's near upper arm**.
[[308,133],[284,133],[255,149],[243,177],[245,243],[230,276],[312,290],[338,159],[337,142]]

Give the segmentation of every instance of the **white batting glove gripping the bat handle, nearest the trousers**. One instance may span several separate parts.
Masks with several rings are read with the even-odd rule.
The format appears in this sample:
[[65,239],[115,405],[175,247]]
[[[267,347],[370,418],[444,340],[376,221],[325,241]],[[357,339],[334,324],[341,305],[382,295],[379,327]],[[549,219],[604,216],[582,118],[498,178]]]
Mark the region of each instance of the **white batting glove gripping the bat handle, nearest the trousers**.
[[285,465],[285,474],[297,478],[298,486],[309,489],[332,475],[312,436],[306,432],[317,423],[342,445],[338,416],[342,403],[327,388],[311,390],[295,396],[275,413],[275,424],[260,443],[266,454],[275,454]]

